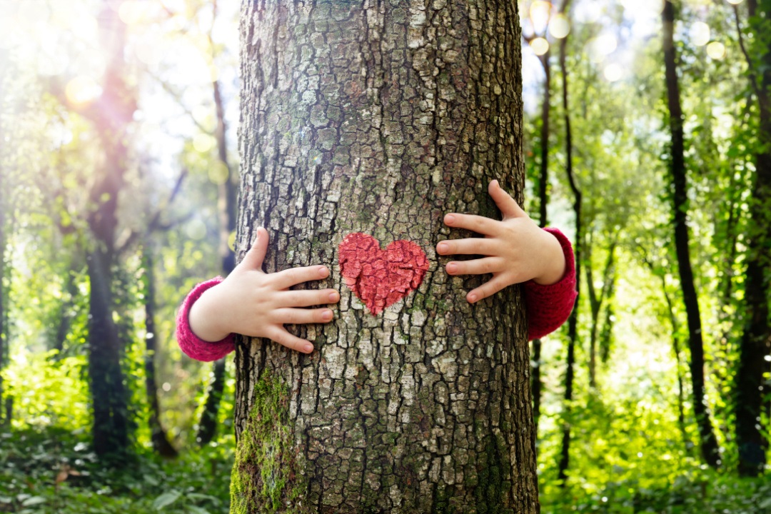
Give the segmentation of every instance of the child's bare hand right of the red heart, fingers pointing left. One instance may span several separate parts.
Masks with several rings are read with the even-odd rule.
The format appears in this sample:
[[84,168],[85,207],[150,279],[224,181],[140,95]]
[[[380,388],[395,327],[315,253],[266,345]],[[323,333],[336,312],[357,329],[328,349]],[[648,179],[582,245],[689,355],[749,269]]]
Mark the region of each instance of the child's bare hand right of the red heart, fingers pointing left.
[[444,223],[449,227],[473,230],[485,237],[445,240],[436,245],[440,255],[488,256],[447,263],[446,270],[450,275],[493,274],[490,281],[470,291],[466,300],[473,304],[496,294],[503,287],[531,279],[543,285],[560,281],[565,272],[565,256],[557,238],[530,220],[517,202],[500,188],[497,180],[490,182],[487,191],[503,214],[503,221],[471,214],[447,214]]

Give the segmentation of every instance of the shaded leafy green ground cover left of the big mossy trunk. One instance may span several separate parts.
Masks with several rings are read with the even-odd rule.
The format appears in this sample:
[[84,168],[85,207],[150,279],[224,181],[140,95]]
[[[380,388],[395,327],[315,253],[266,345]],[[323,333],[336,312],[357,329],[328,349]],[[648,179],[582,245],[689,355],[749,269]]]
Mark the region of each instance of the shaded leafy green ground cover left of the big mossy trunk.
[[164,461],[140,451],[105,468],[82,431],[0,432],[0,512],[123,514],[227,512],[232,454],[224,446]]

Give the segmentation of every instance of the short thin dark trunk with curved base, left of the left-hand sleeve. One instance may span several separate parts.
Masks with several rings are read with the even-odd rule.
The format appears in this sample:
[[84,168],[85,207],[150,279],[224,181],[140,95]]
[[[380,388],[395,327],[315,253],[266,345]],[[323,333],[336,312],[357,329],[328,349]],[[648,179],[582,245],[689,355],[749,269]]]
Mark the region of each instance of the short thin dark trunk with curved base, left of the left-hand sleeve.
[[155,355],[157,351],[157,331],[155,328],[155,268],[153,248],[149,241],[142,247],[144,267],[144,304],[145,304],[145,391],[150,404],[150,439],[153,449],[164,457],[176,457],[177,449],[173,447],[163,424],[160,422],[160,402],[158,401],[158,386],[155,381]]

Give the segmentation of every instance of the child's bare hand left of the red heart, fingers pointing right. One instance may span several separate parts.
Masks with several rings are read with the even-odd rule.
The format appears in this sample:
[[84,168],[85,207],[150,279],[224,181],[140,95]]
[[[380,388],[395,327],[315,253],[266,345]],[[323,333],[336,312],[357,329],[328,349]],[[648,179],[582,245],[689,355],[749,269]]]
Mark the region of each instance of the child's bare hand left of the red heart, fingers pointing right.
[[190,329],[204,341],[220,341],[233,332],[272,339],[292,350],[311,353],[313,344],[290,334],[284,324],[332,321],[330,309],[296,307],[335,304],[340,294],[334,289],[289,291],[291,286],[328,277],[329,270],[308,266],[266,274],[262,261],[267,249],[268,231],[260,227],[244,260],[190,307]]

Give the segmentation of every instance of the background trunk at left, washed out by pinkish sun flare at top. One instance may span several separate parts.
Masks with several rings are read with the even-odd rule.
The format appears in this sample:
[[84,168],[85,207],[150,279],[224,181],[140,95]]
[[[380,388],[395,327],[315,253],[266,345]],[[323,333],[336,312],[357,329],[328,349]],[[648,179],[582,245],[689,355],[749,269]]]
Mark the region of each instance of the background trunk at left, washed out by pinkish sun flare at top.
[[85,116],[92,120],[104,149],[102,169],[90,192],[88,223],[93,235],[86,261],[89,297],[89,377],[93,397],[93,441],[97,455],[120,455],[129,445],[126,387],[120,357],[123,351],[113,322],[113,265],[118,195],[126,171],[126,126],[136,108],[123,74],[126,27],[113,2],[99,15],[100,35],[109,55],[103,95]]

